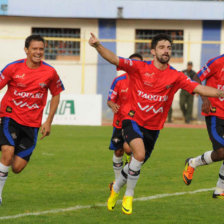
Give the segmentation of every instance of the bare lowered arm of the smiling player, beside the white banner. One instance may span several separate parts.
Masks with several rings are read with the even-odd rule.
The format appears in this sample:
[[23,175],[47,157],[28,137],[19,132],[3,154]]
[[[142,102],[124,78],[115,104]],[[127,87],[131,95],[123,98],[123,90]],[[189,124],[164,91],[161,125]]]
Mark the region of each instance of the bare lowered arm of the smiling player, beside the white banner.
[[45,136],[50,135],[51,124],[52,124],[52,121],[53,121],[53,118],[54,118],[54,114],[56,113],[56,110],[58,108],[59,100],[60,100],[60,94],[58,94],[56,96],[52,96],[52,98],[51,98],[50,112],[49,112],[49,115],[47,117],[47,120],[41,126],[40,132],[42,134],[42,137],[40,139],[43,139]]

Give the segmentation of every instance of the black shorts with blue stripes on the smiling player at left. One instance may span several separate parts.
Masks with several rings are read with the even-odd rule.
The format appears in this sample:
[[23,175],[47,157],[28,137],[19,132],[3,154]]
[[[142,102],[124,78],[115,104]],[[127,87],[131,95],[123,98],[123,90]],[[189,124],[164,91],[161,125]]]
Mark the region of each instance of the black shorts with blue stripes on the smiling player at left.
[[39,128],[24,126],[11,118],[2,117],[0,124],[0,146],[14,146],[14,154],[29,161],[37,143],[38,130]]

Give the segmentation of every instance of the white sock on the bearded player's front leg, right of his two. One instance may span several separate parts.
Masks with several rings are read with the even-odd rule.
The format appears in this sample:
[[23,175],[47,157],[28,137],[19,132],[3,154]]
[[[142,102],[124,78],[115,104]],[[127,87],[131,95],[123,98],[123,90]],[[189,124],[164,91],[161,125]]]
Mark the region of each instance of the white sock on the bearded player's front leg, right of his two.
[[134,196],[134,189],[140,175],[142,164],[143,162],[136,160],[134,157],[131,158],[128,170],[127,188],[125,191],[126,196]]

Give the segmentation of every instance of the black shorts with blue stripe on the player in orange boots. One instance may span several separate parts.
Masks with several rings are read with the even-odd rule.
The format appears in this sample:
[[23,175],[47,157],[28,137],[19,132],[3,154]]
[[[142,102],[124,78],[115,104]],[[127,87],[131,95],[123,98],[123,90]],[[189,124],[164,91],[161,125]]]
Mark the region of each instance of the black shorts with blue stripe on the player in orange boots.
[[205,117],[207,130],[214,150],[224,147],[224,120],[216,116]]

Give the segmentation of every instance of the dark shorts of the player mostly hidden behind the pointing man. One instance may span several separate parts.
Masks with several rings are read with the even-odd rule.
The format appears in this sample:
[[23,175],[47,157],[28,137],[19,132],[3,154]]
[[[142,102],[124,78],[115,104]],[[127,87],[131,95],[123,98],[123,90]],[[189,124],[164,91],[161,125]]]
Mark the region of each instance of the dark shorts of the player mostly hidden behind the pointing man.
[[123,144],[124,144],[124,139],[122,136],[122,129],[114,127],[113,134],[110,140],[109,149],[111,150],[123,149]]

